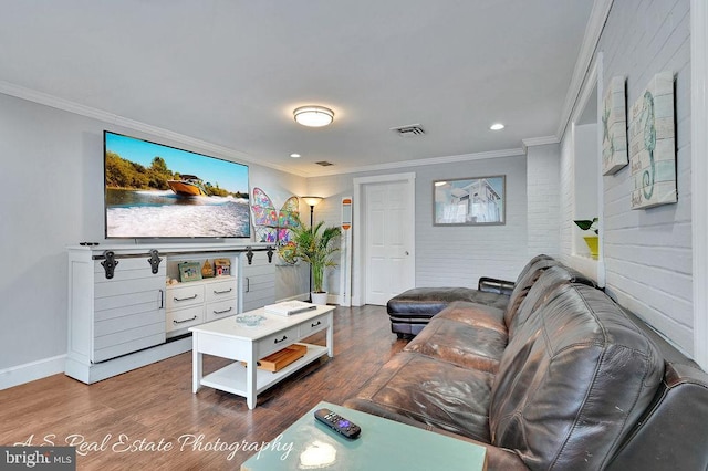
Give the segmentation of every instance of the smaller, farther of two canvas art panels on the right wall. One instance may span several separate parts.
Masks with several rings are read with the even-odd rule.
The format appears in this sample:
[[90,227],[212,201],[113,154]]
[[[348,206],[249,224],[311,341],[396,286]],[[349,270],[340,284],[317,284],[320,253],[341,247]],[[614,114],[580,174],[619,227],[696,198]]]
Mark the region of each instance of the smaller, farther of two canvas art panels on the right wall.
[[602,175],[615,174],[629,163],[624,84],[624,76],[613,77],[602,101]]

